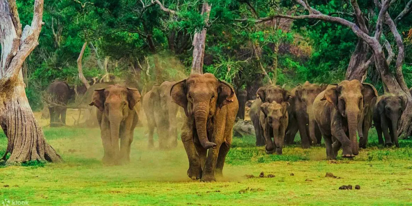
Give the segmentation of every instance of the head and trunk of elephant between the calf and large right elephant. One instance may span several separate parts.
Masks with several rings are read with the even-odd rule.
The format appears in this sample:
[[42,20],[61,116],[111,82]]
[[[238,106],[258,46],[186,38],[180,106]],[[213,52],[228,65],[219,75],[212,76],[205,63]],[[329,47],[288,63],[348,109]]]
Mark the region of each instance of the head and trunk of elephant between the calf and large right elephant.
[[309,136],[311,141],[316,144],[317,138],[315,135],[315,115],[312,109],[313,102],[315,101],[316,96],[326,89],[328,85],[326,84],[311,84],[309,81],[306,81],[303,85],[298,84],[295,88],[295,101],[299,101],[306,110],[307,118],[309,119]]

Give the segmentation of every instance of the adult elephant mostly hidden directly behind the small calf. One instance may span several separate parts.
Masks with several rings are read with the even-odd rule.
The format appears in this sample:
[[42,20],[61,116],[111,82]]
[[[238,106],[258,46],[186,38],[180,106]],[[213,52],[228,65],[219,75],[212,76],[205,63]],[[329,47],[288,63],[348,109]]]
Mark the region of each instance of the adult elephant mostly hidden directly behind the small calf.
[[250,107],[249,117],[255,127],[256,146],[263,146],[265,145],[265,139],[260,133],[260,105],[265,102],[272,103],[273,101],[276,101],[276,103],[287,102],[291,95],[286,89],[277,85],[260,87],[256,93],[259,98]]

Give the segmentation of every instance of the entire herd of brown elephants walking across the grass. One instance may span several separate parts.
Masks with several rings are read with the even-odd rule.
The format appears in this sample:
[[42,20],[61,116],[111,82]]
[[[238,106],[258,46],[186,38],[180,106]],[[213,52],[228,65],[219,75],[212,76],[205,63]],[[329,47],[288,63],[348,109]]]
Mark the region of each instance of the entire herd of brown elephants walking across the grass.
[[[54,84],[64,86],[61,82]],[[245,113],[246,92],[236,92],[239,94],[236,96],[230,84],[210,73],[192,74],[179,82],[163,82],[153,86],[143,98],[138,89],[120,84],[93,89],[89,105],[98,110],[104,164],[129,162],[142,99],[149,147],[154,146],[155,129],[160,149],[176,147],[180,122],[177,114],[181,111],[185,117],[181,121],[181,140],[189,160],[187,175],[210,182],[215,175],[222,174],[232,144],[235,118]],[[405,109],[405,99],[394,94],[378,96],[371,84],[358,80],[329,85],[305,82],[290,91],[269,85],[259,88],[257,96],[249,116],[255,128],[256,145],[265,145],[269,154],[281,155],[283,144],[292,144],[299,131],[304,148],[320,144],[323,136],[328,159],[334,159],[340,148],[343,157],[354,157],[359,147],[366,147],[372,120],[379,143],[399,146],[397,125]],[[63,100],[60,101],[64,104]],[[64,113],[58,112],[62,117]]]

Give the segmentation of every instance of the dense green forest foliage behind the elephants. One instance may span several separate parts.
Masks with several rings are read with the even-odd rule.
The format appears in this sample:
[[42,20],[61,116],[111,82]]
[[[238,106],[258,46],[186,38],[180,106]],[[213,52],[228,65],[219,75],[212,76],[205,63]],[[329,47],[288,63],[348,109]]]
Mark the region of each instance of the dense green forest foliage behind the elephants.
[[[347,1],[311,1],[325,15],[356,22]],[[185,0],[45,0],[39,45],[23,64],[26,94],[33,110],[42,108],[42,92],[55,79],[83,85],[77,59],[89,84],[118,78],[147,82],[179,80],[190,73],[193,37],[207,30],[204,72],[249,91],[273,83],[332,83],[345,79],[358,37],[351,28],[321,19],[276,18],[307,12],[293,1],[211,0],[201,14],[201,1]],[[372,1],[358,1],[363,23],[373,35],[379,10]],[[34,0],[18,1],[22,25],[30,24]],[[408,10],[409,9],[409,10]],[[411,2],[394,1],[388,11],[405,44],[403,75],[412,86]],[[379,39],[397,54],[396,39],[386,25]],[[363,46],[363,63],[372,49]],[[385,54],[388,52],[385,50]],[[393,58],[393,57],[392,57]],[[383,93],[382,81],[370,63],[365,82]],[[390,69],[395,72],[395,62]]]

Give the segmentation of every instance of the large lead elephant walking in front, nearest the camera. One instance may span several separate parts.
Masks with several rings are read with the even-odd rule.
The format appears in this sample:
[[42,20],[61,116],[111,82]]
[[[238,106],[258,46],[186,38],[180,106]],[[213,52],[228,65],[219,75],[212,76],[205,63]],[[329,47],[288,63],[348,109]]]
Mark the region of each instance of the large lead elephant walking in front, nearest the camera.
[[192,74],[177,82],[170,93],[173,101],[185,110],[181,138],[189,159],[187,175],[214,181],[215,173],[222,174],[232,144],[232,129],[239,109],[234,89],[206,73]]

